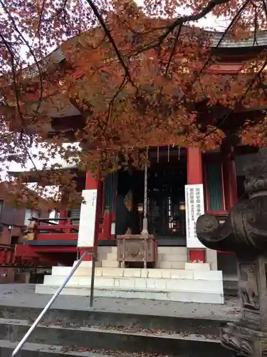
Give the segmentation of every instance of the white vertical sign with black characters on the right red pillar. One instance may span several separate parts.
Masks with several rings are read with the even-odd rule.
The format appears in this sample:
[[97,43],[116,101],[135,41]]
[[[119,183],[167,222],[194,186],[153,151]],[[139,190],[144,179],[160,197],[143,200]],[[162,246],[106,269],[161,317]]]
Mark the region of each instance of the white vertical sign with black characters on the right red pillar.
[[204,248],[196,233],[197,218],[204,214],[203,185],[185,185],[185,216],[187,222],[187,248]]

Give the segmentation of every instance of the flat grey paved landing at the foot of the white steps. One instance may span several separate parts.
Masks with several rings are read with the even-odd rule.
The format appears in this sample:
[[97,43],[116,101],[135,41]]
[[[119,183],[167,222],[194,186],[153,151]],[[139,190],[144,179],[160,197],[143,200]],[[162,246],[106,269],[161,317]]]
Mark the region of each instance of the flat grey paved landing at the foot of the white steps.
[[[35,294],[33,284],[1,284],[0,306],[30,306],[42,308],[51,296]],[[89,311],[86,296],[59,296],[52,308]],[[93,310],[145,315],[177,316],[187,318],[211,318],[236,320],[239,317],[239,299],[228,298],[224,305],[204,303],[179,303],[127,298],[95,298]]]

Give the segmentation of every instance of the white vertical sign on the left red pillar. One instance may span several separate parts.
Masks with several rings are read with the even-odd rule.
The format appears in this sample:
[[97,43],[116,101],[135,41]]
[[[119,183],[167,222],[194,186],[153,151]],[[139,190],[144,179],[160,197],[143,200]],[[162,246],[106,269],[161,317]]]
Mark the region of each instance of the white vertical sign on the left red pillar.
[[95,243],[95,216],[98,190],[83,190],[85,203],[80,206],[78,247],[93,247]]

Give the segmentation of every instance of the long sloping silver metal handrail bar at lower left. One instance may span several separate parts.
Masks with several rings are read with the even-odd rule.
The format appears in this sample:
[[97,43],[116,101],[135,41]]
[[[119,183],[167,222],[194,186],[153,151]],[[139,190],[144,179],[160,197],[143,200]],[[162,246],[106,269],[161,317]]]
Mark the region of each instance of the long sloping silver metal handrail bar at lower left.
[[83,261],[83,258],[88,254],[87,251],[85,251],[83,253],[83,255],[80,257],[79,261],[77,262],[77,264],[75,264],[75,266],[73,266],[73,268],[71,269],[70,273],[68,274],[67,278],[65,279],[64,283],[62,284],[62,286],[60,288],[58,288],[58,290],[56,291],[56,293],[54,293],[54,295],[52,296],[52,298],[48,301],[48,303],[46,304],[45,308],[43,308],[43,311],[40,313],[40,315],[38,316],[38,318],[36,318],[36,321],[33,322],[33,325],[28,329],[26,335],[22,338],[21,342],[19,343],[18,346],[16,346],[16,348],[14,349],[13,353],[11,354],[11,357],[15,357],[17,355],[17,353],[21,350],[21,348],[23,347],[24,343],[27,341],[28,337],[31,336],[31,333],[33,332],[33,330],[36,328],[36,326],[38,326],[38,323],[41,321],[41,319],[43,318],[43,316],[46,314],[46,312],[48,311],[48,309],[50,308],[50,306],[52,305],[52,303],[56,300],[56,298],[58,297],[58,295],[61,293],[61,291],[63,291],[63,288],[65,288],[66,284],[68,283],[68,281],[70,280],[71,276],[73,276],[73,273],[75,273],[75,271],[78,269],[78,267],[80,266],[80,263]]

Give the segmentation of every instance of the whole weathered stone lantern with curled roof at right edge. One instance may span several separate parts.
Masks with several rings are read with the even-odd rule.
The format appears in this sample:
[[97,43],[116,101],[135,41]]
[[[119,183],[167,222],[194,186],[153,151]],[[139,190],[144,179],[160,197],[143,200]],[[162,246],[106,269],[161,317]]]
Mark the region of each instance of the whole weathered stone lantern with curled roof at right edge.
[[241,316],[221,328],[221,344],[236,356],[267,356],[267,151],[260,149],[246,169],[247,198],[220,224],[204,214],[197,237],[207,248],[234,252],[237,258]]

